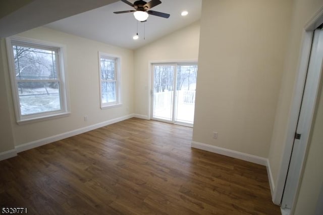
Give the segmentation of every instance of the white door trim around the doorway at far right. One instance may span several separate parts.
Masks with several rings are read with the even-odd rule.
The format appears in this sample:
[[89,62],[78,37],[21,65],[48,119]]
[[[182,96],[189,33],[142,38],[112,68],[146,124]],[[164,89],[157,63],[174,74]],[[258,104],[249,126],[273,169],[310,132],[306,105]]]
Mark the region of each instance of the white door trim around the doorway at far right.
[[[288,123],[288,129],[286,134],[285,148],[282,156],[281,166],[278,173],[277,184],[274,188],[274,194],[273,194],[273,202],[279,205],[281,204],[282,197],[283,197],[283,191],[284,191],[285,182],[287,178],[289,162],[292,154],[295,131],[297,128],[298,115],[301,108],[301,101],[302,101],[302,96],[303,96],[303,91],[305,86],[307,67],[309,64],[309,56],[311,51],[312,39],[313,39],[313,31],[317,27],[319,27],[319,25],[322,22],[323,22],[323,7],[320,8],[320,10],[316,14],[314,14],[313,18],[307,22],[307,24],[304,27],[304,31],[302,33],[302,46],[300,51],[300,58],[298,60],[297,80],[294,85],[294,96],[293,96],[291,111],[289,115],[290,120]],[[306,154],[305,154],[305,157],[306,157]],[[304,160],[302,161],[302,169],[303,169],[303,166],[304,166]],[[302,172],[303,170],[301,170],[301,173]],[[298,195],[298,192],[299,192],[299,186],[297,186],[295,196]],[[293,212],[294,209],[295,209],[295,198],[292,203],[291,212]]]

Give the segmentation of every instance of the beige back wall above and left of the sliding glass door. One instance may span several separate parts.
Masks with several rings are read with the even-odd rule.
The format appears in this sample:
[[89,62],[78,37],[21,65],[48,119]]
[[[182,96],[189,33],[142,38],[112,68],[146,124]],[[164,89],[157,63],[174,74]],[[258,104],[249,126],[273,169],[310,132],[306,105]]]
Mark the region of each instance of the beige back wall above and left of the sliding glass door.
[[136,49],[135,113],[148,116],[148,65],[151,62],[177,62],[198,58],[200,25],[196,22],[153,43]]

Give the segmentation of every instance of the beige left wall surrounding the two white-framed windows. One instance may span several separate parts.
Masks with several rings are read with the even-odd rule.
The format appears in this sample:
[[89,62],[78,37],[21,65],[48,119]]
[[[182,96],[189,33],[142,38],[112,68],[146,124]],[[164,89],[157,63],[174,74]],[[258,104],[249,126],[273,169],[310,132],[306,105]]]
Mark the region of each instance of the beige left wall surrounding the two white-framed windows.
[[[71,115],[42,122],[18,125],[15,121],[13,103],[9,102],[8,107],[12,120],[9,121],[9,119],[6,119],[6,123],[4,124],[2,122],[1,125],[8,127],[12,126],[16,146],[116,119],[118,117],[124,117],[134,112],[132,50],[115,47],[43,27],[23,32],[18,34],[18,36],[66,45],[66,73],[68,77],[67,82]],[[123,103],[121,107],[104,110],[100,109],[98,51],[121,57],[121,91]],[[6,63],[7,62],[5,62],[5,64]],[[9,73],[7,69],[5,70],[5,73]],[[3,76],[3,74],[1,75]],[[7,96],[9,96],[10,101],[12,101],[11,90],[8,87],[7,92]],[[1,93],[3,93],[3,91]],[[2,99],[6,98],[2,96]],[[88,116],[87,122],[85,122],[83,118],[85,115]]]

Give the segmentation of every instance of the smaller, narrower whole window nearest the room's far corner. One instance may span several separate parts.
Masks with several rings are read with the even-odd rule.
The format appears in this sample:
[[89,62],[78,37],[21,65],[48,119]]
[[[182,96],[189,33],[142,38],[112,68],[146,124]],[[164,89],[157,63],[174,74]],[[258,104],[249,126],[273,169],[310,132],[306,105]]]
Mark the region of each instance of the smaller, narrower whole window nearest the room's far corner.
[[120,105],[120,58],[99,52],[101,108]]

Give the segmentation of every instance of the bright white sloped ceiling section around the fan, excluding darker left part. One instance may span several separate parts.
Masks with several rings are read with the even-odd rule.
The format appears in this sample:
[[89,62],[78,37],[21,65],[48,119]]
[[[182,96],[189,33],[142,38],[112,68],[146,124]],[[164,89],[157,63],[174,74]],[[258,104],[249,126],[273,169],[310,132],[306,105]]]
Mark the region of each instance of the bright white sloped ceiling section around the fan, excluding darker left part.
[[[129,2],[133,3],[134,0]],[[200,19],[202,0],[161,0],[161,2],[152,10],[168,13],[171,15],[170,18],[150,15],[147,22],[138,22],[138,40],[132,39],[137,31],[137,21],[133,13],[113,13],[133,9],[121,1],[47,24],[45,27],[119,47],[136,49]],[[186,17],[181,16],[184,10],[189,13]]]

